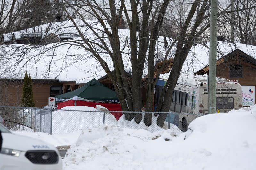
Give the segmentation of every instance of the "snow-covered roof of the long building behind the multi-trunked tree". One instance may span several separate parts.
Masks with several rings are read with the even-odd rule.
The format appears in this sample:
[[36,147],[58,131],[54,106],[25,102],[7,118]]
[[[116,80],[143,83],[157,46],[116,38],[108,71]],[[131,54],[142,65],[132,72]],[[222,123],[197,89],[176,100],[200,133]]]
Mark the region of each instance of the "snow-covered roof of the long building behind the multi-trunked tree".
[[[80,31],[86,35],[88,40],[94,40],[95,34],[81,20],[75,20]],[[94,20],[86,20],[93,25],[100,35],[104,35],[102,27]],[[38,29],[46,30],[49,24],[38,26]],[[73,35],[77,30],[71,21],[55,22],[51,25],[52,32],[55,35],[63,34]],[[120,29],[120,46],[124,68],[128,73],[131,72],[131,61],[129,47],[125,43],[126,38],[129,42],[129,30]],[[19,32],[20,33],[20,32]],[[79,40],[77,40],[79,42]],[[172,42],[172,39],[168,41]],[[99,42],[99,41],[98,41]],[[108,38],[105,42],[109,45]],[[206,44],[209,46],[209,43]],[[110,45],[109,45],[110,46]],[[175,45],[173,46],[168,58],[173,58],[175,54]],[[256,59],[256,46],[245,44],[232,44],[229,42],[218,42],[217,59],[229,54],[235,49],[240,49],[244,53]],[[99,49],[98,54],[106,61],[110,70],[114,70],[113,63],[106,51]],[[159,37],[156,44],[156,52],[166,53],[163,37]],[[184,81],[194,80],[193,75],[196,71],[204,68],[209,63],[209,49],[204,45],[192,46],[190,53],[181,70],[181,76],[178,83],[184,84]],[[86,83],[93,78],[99,79],[106,75],[106,72],[100,66],[100,63],[94,56],[76,43],[51,43],[47,45],[2,45],[0,46],[0,78],[23,78],[25,71],[31,74],[33,79],[54,79],[59,81],[75,81],[77,83]],[[147,63],[145,64],[144,75],[147,74]],[[160,78],[168,78],[169,73],[160,75]],[[191,81],[190,81],[191,82]]]

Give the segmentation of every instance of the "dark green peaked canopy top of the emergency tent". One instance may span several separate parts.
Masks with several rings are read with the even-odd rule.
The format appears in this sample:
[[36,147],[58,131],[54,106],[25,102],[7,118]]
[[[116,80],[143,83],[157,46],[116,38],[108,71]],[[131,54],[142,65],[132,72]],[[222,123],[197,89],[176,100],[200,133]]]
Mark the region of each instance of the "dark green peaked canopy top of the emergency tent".
[[65,101],[75,96],[87,100],[119,102],[116,92],[102,85],[96,79],[92,79],[91,81],[76,90],[57,95],[56,101]]

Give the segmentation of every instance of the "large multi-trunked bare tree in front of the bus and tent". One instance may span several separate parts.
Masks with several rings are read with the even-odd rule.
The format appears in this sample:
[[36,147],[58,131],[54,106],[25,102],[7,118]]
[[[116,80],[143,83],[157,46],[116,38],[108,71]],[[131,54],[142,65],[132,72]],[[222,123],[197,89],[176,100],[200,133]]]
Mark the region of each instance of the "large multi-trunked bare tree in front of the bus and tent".
[[[169,111],[174,87],[191,47],[195,43],[204,43],[210,27],[209,0],[131,0],[130,2],[108,0],[102,3],[96,0],[63,0],[63,3],[60,3],[56,0],[55,5],[63,10],[63,17],[71,21],[72,25],[67,27],[74,28],[71,34],[79,38],[54,44],[24,45],[16,63],[20,63],[20,57],[25,56],[29,51],[33,54],[34,51],[40,51],[37,55],[42,55],[52,50],[51,55],[54,60],[55,48],[63,44],[83,48],[86,52],[77,56],[74,63],[83,62],[88,58],[100,63],[115,88],[123,111],[141,111],[145,103],[144,123],[147,126],[152,123],[152,115],[148,112],[153,111],[154,88],[168,58],[172,58],[173,66],[156,108],[156,111],[161,112]],[[229,14],[229,8],[230,4],[220,7],[218,15]],[[129,28],[125,30],[126,34],[118,30],[118,23],[123,16]],[[62,23],[64,27],[65,23]],[[175,33],[168,31],[170,23],[174,26],[171,31]],[[164,61],[156,70],[154,61],[158,53],[163,54]],[[24,58],[28,63],[34,57]],[[66,55],[64,60],[68,60],[69,57]],[[131,63],[132,77],[127,76],[124,63],[126,59]],[[144,77],[145,72],[146,77]],[[143,88],[147,89],[144,102]],[[160,127],[163,126],[166,115],[158,116],[157,124]],[[139,123],[142,115],[126,113],[125,118],[126,120],[135,118],[135,122]]]

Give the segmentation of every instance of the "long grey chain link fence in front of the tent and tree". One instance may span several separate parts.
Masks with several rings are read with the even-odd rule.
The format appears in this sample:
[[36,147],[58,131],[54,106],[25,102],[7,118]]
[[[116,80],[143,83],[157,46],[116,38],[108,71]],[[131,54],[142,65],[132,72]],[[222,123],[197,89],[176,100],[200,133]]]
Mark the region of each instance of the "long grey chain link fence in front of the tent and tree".
[[[149,122],[144,119],[145,114],[152,118],[150,126],[146,126]],[[166,115],[162,127],[156,123],[159,114]],[[163,129],[186,131],[188,123],[202,116],[200,114],[172,112],[63,110],[11,106],[0,106],[0,115],[5,121],[5,126],[11,130],[46,132],[49,134],[67,134],[102,124],[113,124],[122,128],[145,129],[150,132]],[[136,123],[136,118],[128,121],[126,116],[136,117],[137,120],[141,120],[142,116],[142,120]],[[150,121],[150,119],[148,120]]]

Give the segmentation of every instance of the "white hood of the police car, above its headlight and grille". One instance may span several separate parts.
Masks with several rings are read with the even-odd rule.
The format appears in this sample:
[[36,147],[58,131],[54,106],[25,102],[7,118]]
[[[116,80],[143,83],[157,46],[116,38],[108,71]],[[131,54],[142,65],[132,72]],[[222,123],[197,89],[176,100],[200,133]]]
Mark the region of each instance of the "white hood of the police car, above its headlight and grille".
[[12,133],[2,133],[3,148],[14,149],[19,151],[28,150],[55,150],[56,148],[44,141],[27,136],[16,135]]

